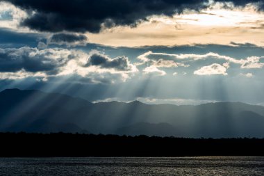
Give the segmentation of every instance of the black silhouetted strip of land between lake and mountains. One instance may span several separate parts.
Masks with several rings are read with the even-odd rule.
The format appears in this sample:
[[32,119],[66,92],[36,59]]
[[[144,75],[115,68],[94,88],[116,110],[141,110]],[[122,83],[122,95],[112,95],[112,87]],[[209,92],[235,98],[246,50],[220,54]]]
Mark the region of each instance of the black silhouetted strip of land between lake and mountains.
[[264,156],[264,139],[0,133],[0,157]]

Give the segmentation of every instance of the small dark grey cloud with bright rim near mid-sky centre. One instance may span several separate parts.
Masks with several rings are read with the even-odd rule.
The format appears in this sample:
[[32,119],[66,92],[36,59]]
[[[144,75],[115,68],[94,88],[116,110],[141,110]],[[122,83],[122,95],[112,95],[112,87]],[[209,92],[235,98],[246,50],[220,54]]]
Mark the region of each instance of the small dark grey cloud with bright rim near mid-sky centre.
[[92,54],[88,63],[85,66],[95,65],[101,68],[114,68],[115,70],[129,71],[132,70],[133,65],[129,63],[129,58],[119,56],[116,58],[108,58],[102,54]]

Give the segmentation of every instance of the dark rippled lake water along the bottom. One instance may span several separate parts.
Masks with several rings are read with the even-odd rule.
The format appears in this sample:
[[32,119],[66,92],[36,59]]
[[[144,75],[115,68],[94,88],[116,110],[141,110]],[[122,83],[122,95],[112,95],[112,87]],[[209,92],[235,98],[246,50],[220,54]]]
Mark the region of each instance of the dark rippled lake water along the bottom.
[[0,175],[264,175],[264,157],[0,158]]

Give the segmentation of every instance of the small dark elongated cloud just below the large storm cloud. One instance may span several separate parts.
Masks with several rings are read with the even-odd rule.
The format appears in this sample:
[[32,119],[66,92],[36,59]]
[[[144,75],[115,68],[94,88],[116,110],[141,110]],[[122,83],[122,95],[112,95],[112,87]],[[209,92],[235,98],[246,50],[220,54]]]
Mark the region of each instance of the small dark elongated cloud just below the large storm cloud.
[[74,43],[85,42],[88,38],[85,35],[76,35],[74,33],[56,33],[51,36],[51,43]]

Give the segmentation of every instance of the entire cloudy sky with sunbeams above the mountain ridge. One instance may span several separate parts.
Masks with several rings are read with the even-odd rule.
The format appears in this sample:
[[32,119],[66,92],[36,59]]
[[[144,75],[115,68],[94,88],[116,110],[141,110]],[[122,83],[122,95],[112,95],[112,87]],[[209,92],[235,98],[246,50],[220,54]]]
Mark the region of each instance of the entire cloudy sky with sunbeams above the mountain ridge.
[[0,90],[264,105],[262,0],[0,0]]

